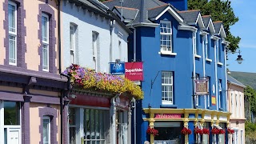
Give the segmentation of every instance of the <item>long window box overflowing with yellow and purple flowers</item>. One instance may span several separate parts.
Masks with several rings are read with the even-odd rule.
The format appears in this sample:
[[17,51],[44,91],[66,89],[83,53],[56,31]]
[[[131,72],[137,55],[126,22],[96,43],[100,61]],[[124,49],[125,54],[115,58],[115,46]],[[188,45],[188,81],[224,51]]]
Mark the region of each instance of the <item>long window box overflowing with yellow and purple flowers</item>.
[[136,99],[143,98],[141,88],[126,78],[98,73],[76,64],[67,67],[63,74],[70,76],[70,83],[74,89],[101,91],[113,95],[126,93]]

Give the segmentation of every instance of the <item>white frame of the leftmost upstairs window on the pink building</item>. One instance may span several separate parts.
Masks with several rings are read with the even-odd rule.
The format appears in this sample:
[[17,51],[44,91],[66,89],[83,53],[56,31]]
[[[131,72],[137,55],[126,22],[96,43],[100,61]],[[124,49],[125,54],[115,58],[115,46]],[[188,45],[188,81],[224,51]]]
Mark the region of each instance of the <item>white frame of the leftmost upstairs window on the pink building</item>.
[[[14,6],[14,32],[10,31],[10,28],[8,26],[9,36],[14,37],[15,46],[14,46],[14,62],[10,62],[10,46],[9,46],[9,65],[17,66],[17,4],[15,2],[8,2],[8,11],[9,11],[9,5]],[[9,17],[9,16],[8,16]],[[8,24],[9,25],[9,24]],[[9,39],[10,42],[10,39]]]

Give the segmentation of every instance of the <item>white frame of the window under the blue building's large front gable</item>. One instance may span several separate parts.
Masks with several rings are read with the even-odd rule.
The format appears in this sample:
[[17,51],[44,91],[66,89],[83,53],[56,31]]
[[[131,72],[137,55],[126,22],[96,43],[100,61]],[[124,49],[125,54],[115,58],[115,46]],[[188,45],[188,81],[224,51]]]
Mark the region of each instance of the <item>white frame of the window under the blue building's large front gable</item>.
[[[167,33],[167,32],[161,32],[161,29],[163,27],[161,27],[161,23],[165,23],[166,24],[166,28],[165,30],[167,31],[167,29],[170,29],[170,33]],[[168,25],[170,25],[170,27],[168,27]],[[167,42],[166,42],[166,50],[164,50],[163,46],[161,43],[162,43],[162,35],[166,35],[166,36],[170,36],[170,50],[168,50],[168,45],[167,45]],[[167,53],[170,53],[172,54],[173,53],[173,39],[172,39],[172,35],[173,35],[173,29],[172,29],[172,25],[171,25],[171,22],[170,21],[160,21],[160,51],[162,54],[166,54]]]

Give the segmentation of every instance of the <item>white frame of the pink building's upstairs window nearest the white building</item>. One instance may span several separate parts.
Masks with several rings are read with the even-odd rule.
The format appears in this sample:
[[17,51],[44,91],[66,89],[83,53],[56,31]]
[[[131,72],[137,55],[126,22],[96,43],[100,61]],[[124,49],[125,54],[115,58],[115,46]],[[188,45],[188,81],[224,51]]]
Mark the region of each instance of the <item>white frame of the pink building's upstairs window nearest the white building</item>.
[[[42,38],[42,70],[43,71],[49,71],[49,15],[47,15],[47,14],[44,14],[44,13],[42,13],[42,17],[45,17],[45,18],[47,18],[47,21],[46,21],[46,32],[47,32],[47,39],[46,39],[46,41],[44,40],[44,38]],[[47,68],[45,68],[44,66],[43,66],[43,61],[44,61],[44,57],[43,57],[43,50],[45,49],[44,48],[44,46],[46,46],[46,56],[47,56],[47,58],[46,58],[46,67]]]

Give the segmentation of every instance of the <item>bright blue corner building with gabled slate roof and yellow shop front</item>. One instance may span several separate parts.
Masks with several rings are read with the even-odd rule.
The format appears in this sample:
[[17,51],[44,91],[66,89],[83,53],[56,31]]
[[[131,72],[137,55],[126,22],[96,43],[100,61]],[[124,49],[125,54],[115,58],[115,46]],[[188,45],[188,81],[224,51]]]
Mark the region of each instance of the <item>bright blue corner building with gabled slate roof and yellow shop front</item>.
[[[226,143],[226,34],[186,0],[104,2],[133,31],[129,61],[143,62],[144,99],[137,102],[134,141]],[[192,134],[182,134],[186,127]],[[210,130],[196,134],[194,129]],[[151,132],[150,132],[151,130]],[[153,134],[158,130],[158,135]]]

